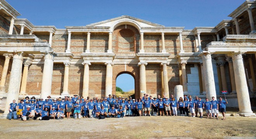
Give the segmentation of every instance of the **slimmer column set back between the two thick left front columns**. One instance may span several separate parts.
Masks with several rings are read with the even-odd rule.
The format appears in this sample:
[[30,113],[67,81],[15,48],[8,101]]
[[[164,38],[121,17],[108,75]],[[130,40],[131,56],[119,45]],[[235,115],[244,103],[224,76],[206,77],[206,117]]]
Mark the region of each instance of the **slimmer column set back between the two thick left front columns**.
[[20,95],[27,95],[26,94],[26,86],[27,86],[27,78],[28,78],[28,67],[31,65],[31,62],[26,59],[24,61],[24,69],[23,69],[23,74],[22,74],[22,80],[21,80],[21,91]]

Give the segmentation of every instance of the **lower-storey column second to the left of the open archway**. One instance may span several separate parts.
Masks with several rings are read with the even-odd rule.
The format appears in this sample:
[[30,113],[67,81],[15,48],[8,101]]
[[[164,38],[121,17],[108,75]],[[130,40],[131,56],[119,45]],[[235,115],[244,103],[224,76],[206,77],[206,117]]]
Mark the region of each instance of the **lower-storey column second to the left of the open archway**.
[[[83,97],[89,96],[89,66],[91,65],[90,62],[83,62],[85,65],[84,73],[83,73]],[[104,96],[103,96],[104,97]]]

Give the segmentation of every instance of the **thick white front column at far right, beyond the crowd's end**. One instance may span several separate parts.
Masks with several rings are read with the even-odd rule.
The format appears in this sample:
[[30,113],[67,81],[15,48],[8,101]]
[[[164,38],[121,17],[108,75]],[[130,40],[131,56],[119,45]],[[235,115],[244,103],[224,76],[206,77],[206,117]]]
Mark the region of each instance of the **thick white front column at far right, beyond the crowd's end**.
[[237,89],[237,100],[239,106],[239,113],[242,116],[251,116],[253,111],[251,110],[251,102],[246,83],[246,74],[244,71],[244,63],[242,53],[231,53],[235,73],[235,86]]

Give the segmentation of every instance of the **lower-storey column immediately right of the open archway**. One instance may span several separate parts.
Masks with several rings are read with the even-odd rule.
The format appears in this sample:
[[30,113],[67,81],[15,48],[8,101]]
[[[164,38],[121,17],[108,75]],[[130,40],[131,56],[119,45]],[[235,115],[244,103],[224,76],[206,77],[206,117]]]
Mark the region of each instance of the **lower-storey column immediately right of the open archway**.
[[139,62],[138,66],[140,66],[140,97],[144,96],[144,93],[147,93],[147,85],[146,85],[146,62]]

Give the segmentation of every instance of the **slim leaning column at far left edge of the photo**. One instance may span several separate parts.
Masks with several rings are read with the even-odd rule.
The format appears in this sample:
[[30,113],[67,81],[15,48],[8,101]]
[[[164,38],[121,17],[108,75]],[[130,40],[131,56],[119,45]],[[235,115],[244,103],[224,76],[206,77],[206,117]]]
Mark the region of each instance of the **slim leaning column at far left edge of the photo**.
[[10,58],[12,57],[12,54],[4,54],[3,56],[5,56],[5,62],[3,65],[3,71],[2,71],[1,81],[0,81],[0,94],[5,95],[5,81],[6,81],[9,62],[10,62]]

